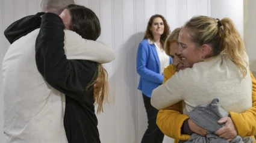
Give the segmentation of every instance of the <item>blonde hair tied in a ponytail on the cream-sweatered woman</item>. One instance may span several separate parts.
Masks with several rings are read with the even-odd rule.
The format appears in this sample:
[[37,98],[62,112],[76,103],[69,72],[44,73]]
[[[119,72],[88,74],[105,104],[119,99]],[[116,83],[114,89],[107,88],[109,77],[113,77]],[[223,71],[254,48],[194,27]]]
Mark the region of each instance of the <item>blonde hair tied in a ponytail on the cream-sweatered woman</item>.
[[245,45],[231,19],[219,20],[207,16],[195,16],[184,27],[190,30],[190,40],[197,47],[203,44],[212,47],[208,58],[219,55],[219,53],[226,53],[240,68],[243,77],[246,76],[248,62],[245,58]]

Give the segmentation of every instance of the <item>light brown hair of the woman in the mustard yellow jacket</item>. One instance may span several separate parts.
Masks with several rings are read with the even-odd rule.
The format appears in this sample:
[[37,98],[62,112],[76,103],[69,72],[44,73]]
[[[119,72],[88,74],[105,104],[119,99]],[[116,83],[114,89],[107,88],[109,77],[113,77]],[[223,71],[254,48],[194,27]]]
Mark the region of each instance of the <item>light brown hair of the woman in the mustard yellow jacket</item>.
[[181,28],[174,29],[164,41],[164,52],[166,53],[166,55],[170,56],[170,44],[172,44],[173,42],[178,43],[180,31]]

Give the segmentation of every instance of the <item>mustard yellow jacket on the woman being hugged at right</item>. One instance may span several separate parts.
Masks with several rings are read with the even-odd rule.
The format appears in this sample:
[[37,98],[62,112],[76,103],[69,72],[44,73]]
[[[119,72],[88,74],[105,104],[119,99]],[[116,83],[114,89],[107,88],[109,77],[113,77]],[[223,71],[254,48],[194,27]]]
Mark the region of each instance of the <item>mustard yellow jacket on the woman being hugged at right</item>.
[[[250,71],[251,72],[251,71]],[[164,69],[164,82],[170,79],[175,74],[175,68],[173,65],[169,65]],[[235,112],[229,112],[234,124],[237,127],[238,134],[240,136],[252,136],[256,135],[256,80],[251,73],[252,78],[252,108],[247,111],[237,114]],[[183,114],[183,103],[178,102],[168,108],[161,109],[157,115],[157,125],[160,130],[170,138],[175,139],[175,143],[179,140],[186,141],[190,138],[189,135],[181,134],[181,126],[184,121],[189,118]]]

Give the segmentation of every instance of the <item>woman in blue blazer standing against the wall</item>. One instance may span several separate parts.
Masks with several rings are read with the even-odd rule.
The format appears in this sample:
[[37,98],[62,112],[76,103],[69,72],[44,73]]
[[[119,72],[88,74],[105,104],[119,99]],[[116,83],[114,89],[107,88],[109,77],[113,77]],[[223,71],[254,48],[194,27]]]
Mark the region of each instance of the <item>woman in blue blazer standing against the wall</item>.
[[143,101],[148,116],[148,129],[142,143],[163,142],[164,134],[156,122],[158,110],[151,105],[152,91],[163,84],[163,70],[172,64],[172,58],[163,49],[164,40],[170,33],[169,25],[163,16],[151,16],[144,40],[137,50],[137,73],[140,75],[138,89],[142,91]]

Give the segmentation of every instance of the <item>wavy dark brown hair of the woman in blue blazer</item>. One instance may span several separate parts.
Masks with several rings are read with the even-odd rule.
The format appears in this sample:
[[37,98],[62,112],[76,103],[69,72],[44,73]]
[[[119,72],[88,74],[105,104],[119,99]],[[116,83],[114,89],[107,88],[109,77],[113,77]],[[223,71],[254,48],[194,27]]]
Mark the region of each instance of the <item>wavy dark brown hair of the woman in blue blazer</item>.
[[163,23],[164,23],[164,32],[163,32],[163,34],[161,35],[161,38],[160,38],[160,43],[163,46],[164,41],[166,40],[167,36],[170,34],[170,27],[169,27],[168,23],[166,22],[166,19],[164,19],[164,17],[161,16],[160,14],[155,14],[154,16],[150,17],[149,22],[148,22],[148,26],[146,28],[146,32],[145,32],[145,35],[144,35],[143,39],[148,38],[149,40],[154,41],[154,35],[150,31],[150,28],[153,24],[154,19],[157,18],[157,17],[160,17],[163,20]]

